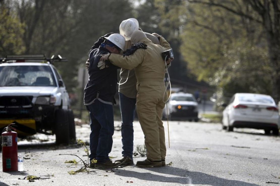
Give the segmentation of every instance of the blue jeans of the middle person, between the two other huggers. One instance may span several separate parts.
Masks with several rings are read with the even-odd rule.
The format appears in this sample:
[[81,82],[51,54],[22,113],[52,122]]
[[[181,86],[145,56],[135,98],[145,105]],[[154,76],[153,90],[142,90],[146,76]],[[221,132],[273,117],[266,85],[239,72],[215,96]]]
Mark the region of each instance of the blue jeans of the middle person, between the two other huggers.
[[136,98],[129,98],[119,92],[120,110],[122,114],[122,156],[132,159],[133,154],[133,120],[135,112]]

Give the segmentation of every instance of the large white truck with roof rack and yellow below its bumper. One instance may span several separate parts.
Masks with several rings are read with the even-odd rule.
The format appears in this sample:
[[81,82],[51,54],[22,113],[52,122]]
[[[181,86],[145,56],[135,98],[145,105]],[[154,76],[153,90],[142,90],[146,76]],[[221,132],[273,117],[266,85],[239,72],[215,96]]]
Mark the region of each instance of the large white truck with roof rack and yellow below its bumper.
[[57,144],[76,140],[69,96],[54,61],[60,55],[6,56],[0,60],[0,131],[15,123],[18,136],[56,135]]

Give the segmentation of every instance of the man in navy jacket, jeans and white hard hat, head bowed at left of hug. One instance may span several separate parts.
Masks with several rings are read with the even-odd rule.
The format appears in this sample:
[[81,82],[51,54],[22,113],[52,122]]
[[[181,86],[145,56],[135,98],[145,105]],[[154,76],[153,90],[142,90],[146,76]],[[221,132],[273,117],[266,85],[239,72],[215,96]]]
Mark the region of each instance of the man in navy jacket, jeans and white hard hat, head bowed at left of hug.
[[[120,54],[125,46],[125,38],[120,34],[110,34],[104,39],[100,38],[99,42],[102,40],[104,43],[101,46],[99,42],[95,43],[89,52],[89,78],[84,90],[84,104],[90,112],[90,166],[114,168],[121,164],[109,159],[113,144],[113,103],[119,67],[109,62],[101,64],[99,61],[102,54]],[[97,162],[93,163],[92,160]]]

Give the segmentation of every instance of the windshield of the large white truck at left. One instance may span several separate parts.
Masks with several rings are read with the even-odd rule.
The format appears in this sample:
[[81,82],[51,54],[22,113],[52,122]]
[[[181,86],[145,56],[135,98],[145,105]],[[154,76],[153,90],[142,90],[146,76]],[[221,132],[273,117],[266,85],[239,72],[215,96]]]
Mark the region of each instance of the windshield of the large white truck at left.
[[0,86],[56,86],[49,66],[1,66]]

